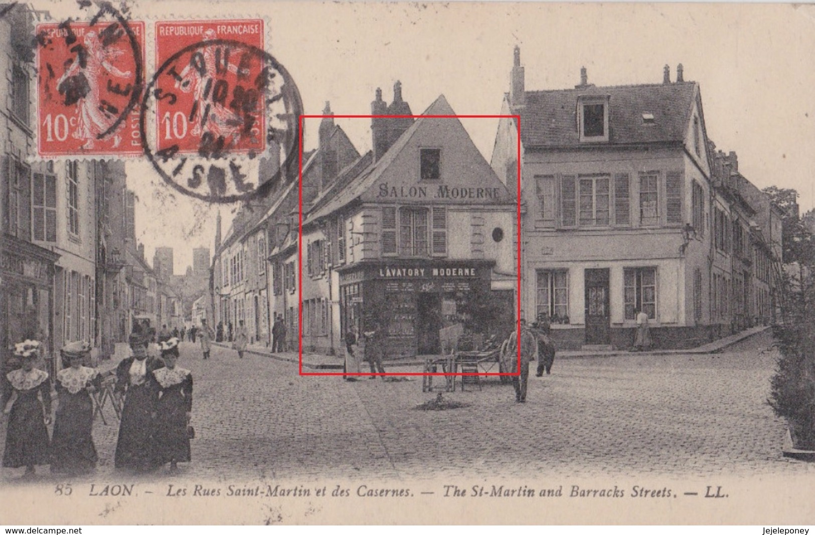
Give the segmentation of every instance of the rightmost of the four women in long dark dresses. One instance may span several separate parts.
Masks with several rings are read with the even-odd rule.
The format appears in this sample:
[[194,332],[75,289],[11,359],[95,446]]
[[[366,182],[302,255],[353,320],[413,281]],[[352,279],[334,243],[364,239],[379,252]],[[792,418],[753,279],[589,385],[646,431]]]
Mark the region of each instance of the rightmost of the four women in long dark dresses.
[[190,462],[190,437],[187,426],[192,412],[192,374],[176,366],[178,339],[161,344],[165,367],[153,371],[158,385],[156,404],[156,452],[159,462],[170,463],[170,472],[178,471],[177,463]]

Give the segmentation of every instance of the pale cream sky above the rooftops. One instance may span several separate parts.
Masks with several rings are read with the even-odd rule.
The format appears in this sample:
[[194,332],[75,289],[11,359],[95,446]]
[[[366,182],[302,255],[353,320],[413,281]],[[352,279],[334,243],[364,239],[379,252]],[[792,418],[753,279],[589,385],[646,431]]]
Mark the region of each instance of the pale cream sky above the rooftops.
[[[717,148],[736,151],[740,171],[756,186],[794,187],[802,212],[815,206],[813,6],[166,1],[136,3],[134,13],[146,8],[153,16],[261,15],[267,50],[296,82],[304,112],[314,115],[326,101],[337,114],[368,114],[376,88],[390,102],[397,80],[415,114],[439,94],[456,113],[497,114],[516,45],[526,90],[573,87],[581,67],[597,86],[660,83],[663,65],[673,80],[681,63],[685,80],[700,84]],[[463,122],[489,160],[497,121]],[[317,124],[306,122],[306,149],[315,147]],[[370,148],[368,120],[337,124],[359,151]],[[171,191],[142,161],[127,170],[148,259],[157,246],[174,247],[174,270],[183,274],[192,248],[213,247],[216,214],[226,233],[236,206]]]

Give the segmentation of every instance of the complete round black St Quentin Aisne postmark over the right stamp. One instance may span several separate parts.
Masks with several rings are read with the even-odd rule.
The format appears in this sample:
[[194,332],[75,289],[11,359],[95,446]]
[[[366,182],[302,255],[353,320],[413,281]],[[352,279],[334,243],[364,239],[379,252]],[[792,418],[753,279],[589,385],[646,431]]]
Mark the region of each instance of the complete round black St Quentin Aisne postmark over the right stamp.
[[[233,203],[293,179],[301,114],[297,86],[271,54],[205,37],[156,70],[144,91],[139,130],[144,155],[170,186],[200,200]],[[253,160],[263,162],[257,172],[247,169]]]

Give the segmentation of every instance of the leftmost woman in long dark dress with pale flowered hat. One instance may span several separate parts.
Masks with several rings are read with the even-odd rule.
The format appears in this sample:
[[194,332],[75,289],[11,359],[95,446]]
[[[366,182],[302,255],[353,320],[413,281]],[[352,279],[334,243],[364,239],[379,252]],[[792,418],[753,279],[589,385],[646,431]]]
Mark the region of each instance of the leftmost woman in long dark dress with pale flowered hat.
[[46,428],[51,423],[51,382],[46,371],[34,367],[39,346],[36,340],[15,344],[22,367],[6,375],[11,390],[2,399],[3,414],[8,414],[2,466],[25,467],[26,478],[34,475],[37,464],[48,464],[51,453]]

